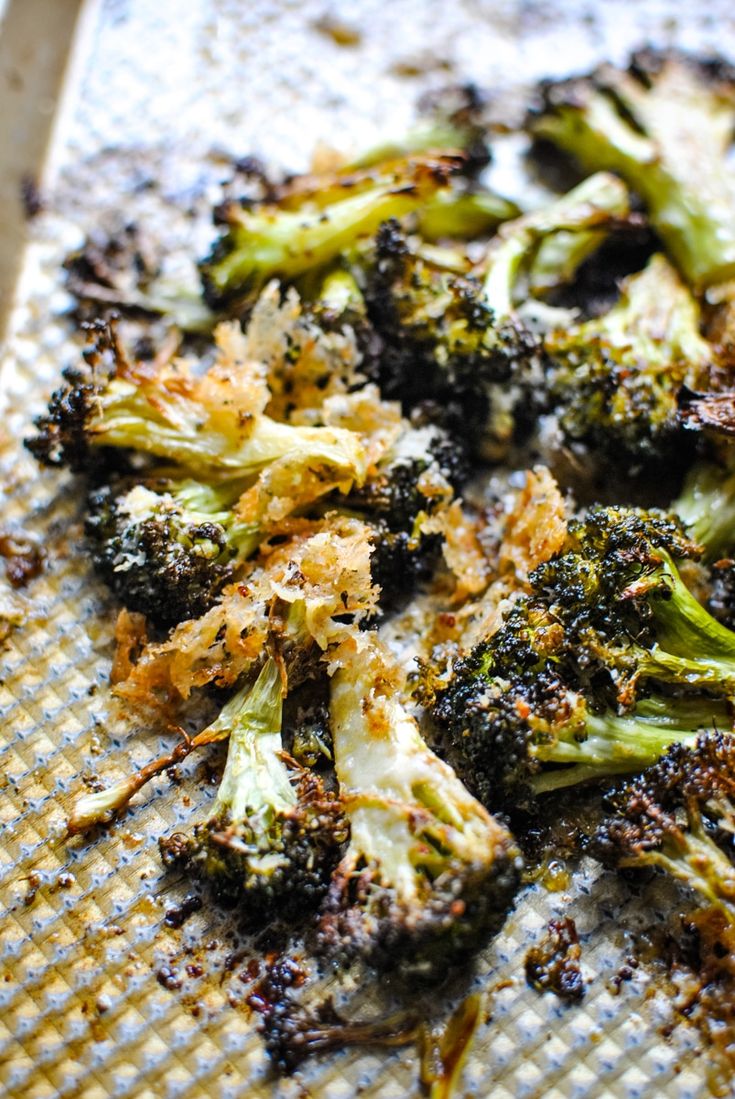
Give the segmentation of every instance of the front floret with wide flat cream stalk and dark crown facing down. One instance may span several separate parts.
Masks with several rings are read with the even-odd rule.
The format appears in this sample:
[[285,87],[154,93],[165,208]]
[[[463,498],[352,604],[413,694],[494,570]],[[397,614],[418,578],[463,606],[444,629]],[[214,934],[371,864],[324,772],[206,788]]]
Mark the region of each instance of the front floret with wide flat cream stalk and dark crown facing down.
[[422,740],[375,637],[332,680],[334,759],[350,841],[325,899],[322,952],[439,976],[502,918],[519,882],[509,832]]

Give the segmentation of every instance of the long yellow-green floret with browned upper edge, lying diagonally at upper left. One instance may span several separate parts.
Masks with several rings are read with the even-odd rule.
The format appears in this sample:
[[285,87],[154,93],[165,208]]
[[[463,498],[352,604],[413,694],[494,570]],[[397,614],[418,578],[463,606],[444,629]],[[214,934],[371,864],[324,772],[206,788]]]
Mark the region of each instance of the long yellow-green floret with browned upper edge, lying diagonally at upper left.
[[315,178],[276,204],[231,202],[225,233],[201,265],[213,309],[248,303],[269,279],[319,270],[369,237],[381,222],[420,209],[461,166],[461,157],[416,156],[377,168]]

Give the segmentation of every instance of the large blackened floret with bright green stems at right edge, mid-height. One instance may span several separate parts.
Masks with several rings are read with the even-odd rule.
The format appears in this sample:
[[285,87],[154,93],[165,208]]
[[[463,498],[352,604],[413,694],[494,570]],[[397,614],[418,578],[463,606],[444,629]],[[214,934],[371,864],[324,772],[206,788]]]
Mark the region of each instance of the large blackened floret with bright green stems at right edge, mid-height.
[[731,728],[735,634],[684,586],[676,562],[695,555],[664,513],[594,508],[569,523],[531,593],[435,703],[447,752],[483,800],[636,770],[700,729]]

